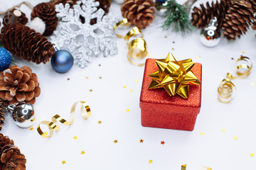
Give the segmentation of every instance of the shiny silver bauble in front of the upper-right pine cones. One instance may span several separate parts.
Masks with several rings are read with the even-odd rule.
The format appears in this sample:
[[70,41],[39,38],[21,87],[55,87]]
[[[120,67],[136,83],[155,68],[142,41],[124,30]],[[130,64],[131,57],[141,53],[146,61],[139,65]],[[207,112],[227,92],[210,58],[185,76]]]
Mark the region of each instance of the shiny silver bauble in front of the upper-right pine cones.
[[207,47],[215,47],[220,42],[220,29],[217,18],[213,17],[206,28],[201,30],[200,41]]

